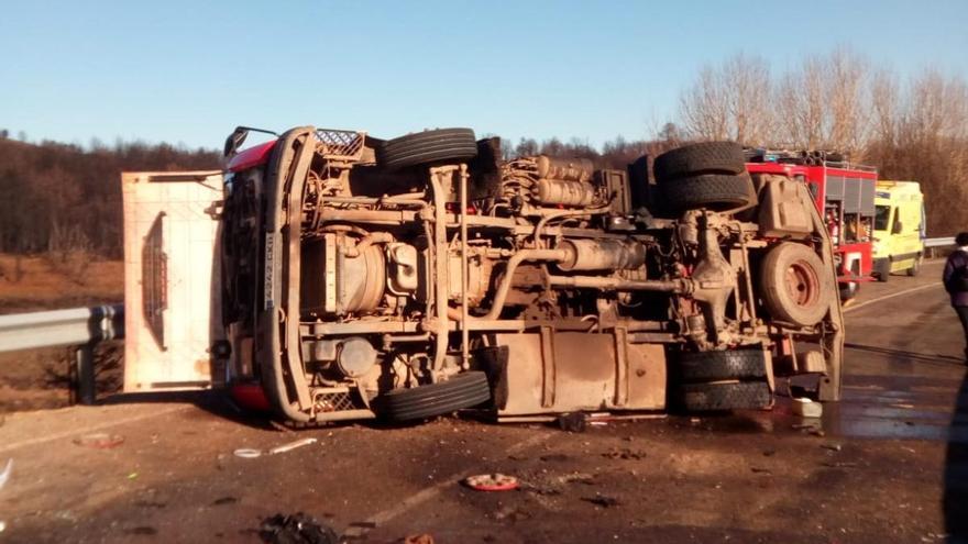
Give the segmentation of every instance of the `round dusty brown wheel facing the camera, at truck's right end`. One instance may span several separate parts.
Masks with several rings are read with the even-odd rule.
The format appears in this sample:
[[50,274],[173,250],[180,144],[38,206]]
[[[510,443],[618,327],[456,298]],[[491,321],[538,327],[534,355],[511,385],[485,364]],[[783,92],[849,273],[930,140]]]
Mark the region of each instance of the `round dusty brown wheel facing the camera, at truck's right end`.
[[817,324],[835,296],[833,274],[810,247],[784,242],[760,267],[763,306],[774,319],[801,326]]

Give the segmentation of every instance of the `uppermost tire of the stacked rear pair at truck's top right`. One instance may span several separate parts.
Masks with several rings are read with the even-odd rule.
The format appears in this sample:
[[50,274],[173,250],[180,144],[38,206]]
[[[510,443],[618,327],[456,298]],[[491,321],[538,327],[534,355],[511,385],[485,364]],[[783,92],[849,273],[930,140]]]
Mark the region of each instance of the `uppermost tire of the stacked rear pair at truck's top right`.
[[703,174],[736,176],[746,171],[746,157],[736,142],[701,142],[659,155],[652,170],[659,182]]

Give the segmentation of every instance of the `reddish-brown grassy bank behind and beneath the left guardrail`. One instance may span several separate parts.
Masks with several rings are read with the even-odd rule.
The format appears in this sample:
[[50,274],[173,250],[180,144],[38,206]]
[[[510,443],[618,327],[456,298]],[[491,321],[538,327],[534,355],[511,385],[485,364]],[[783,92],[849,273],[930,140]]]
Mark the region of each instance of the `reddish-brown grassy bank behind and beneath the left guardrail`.
[[[85,253],[0,254],[0,314],[116,303],[124,300],[124,263]],[[120,343],[98,348],[98,388],[120,386]],[[72,348],[0,353],[0,412],[72,402]]]

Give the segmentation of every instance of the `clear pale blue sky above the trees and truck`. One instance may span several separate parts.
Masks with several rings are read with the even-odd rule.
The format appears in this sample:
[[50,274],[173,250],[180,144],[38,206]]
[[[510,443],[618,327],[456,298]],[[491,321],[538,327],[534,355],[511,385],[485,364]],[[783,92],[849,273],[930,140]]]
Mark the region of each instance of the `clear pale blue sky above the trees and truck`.
[[695,73],[847,45],[968,75],[968,1],[6,2],[0,127],[220,147],[237,124],[649,135]]

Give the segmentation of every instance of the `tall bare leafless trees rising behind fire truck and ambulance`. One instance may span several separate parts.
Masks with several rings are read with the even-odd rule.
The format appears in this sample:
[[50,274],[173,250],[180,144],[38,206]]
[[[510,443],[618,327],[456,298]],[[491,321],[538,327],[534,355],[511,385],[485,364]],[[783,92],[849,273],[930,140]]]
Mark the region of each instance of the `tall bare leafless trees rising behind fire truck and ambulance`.
[[881,179],[921,181],[930,235],[966,230],[968,84],[935,69],[902,79],[846,48],[777,73],[735,55],[703,68],[680,97],[690,140],[845,152]]

